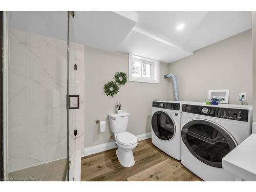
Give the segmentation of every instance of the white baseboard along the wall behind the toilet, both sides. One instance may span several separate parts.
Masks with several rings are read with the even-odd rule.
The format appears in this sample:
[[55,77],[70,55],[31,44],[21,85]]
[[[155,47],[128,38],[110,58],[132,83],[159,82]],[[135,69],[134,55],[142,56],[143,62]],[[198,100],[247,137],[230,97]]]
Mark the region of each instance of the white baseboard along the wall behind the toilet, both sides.
[[[151,132],[150,133],[144,133],[144,134],[141,134],[141,135],[137,135],[136,137],[137,137],[138,141],[149,139],[149,138],[151,138]],[[103,144],[99,144],[99,145],[95,145],[95,146],[86,147],[86,148],[84,148],[84,156],[96,154],[96,153],[99,153],[99,152],[104,152],[106,150],[111,150],[112,148],[117,148],[117,145],[116,145],[115,141],[108,142],[108,143],[103,143]]]

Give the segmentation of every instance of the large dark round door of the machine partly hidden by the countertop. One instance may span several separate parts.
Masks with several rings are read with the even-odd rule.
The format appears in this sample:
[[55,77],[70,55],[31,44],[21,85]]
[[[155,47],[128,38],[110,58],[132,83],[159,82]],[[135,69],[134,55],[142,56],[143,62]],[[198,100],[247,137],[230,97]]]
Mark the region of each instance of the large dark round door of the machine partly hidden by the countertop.
[[223,127],[203,119],[186,123],[181,130],[181,138],[197,159],[218,168],[222,168],[222,158],[237,145]]

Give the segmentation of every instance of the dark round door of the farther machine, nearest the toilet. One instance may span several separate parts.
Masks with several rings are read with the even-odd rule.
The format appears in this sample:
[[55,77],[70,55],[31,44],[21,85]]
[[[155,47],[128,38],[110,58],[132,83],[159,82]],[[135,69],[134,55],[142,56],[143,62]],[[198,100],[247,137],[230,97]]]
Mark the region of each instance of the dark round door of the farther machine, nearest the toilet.
[[152,130],[161,140],[170,140],[175,135],[173,119],[164,111],[157,111],[151,119]]

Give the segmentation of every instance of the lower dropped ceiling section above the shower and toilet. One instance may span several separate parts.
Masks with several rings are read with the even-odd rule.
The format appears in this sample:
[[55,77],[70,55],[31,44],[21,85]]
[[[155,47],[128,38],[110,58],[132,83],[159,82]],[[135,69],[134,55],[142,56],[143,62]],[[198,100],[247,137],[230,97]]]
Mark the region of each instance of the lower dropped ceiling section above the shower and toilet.
[[[9,27],[67,40],[67,11],[11,11]],[[115,52],[137,23],[135,12],[76,11],[70,18],[70,40],[77,44]]]

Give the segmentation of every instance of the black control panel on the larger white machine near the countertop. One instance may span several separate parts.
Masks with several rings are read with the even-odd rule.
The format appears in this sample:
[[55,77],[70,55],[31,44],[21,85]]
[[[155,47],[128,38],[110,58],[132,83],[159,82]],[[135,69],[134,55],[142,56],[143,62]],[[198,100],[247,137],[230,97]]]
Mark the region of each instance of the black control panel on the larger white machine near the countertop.
[[236,121],[248,121],[248,110],[233,108],[218,108],[212,106],[200,106],[183,104],[182,112],[218,117],[223,119],[231,119]]

